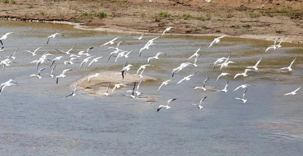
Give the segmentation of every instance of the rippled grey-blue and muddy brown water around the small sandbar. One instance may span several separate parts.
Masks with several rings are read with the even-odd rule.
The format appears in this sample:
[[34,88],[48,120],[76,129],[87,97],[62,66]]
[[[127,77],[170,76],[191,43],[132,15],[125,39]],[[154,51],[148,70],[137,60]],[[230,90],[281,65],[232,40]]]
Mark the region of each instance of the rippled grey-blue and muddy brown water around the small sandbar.
[[[138,51],[148,39],[157,35],[144,35],[142,40],[127,38],[120,33],[85,31],[71,25],[31,23],[20,21],[0,21],[0,35],[16,32],[4,40],[5,50],[0,56],[9,56],[17,48],[18,64],[11,64],[0,74],[0,83],[14,79],[19,86],[6,87],[0,95],[0,155],[300,155],[303,153],[302,90],[296,95],[279,96],[291,92],[303,85],[303,45],[282,43],[282,47],[269,50],[272,41],[225,37],[218,44],[208,48],[212,36],[171,36],[166,34],[155,40],[155,45]],[[56,32],[57,36],[49,40],[47,36]],[[115,58],[107,61],[111,50],[103,43],[121,36],[117,41],[126,40],[119,48],[130,50],[129,58]],[[138,37],[139,35],[131,35]],[[48,51],[56,56],[64,56],[55,50],[68,50],[73,45],[72,54],[88,47],[91,56],[106,56],[91,67],[79,66],[84,57],[74,65],[63,64],[64,59],[56,61],[55,74],[64,69],[72,69],[67,76],[59,80],[51,79],[44,73],[42,78],[29,78],[36,74],[36,65],[29,64]],[[149,104],[142,99],[131,99],[117,93],[110,97],[93,97],[76,92],[75,97],[63,99],[73,89],[70,84],[88,74],[102,71],[119,72],[127,61],[132,64],[127,73],[135,73],[140,65],[147,64],[147,58],[159,52],[159,60],[151,60],[143,73],[161,80],[171,79],[172,69],[177,68],[196,49],[201,46],[197,67],[186,67],[174,76],[169,85],[157,92],[161,81],[142,83],[142,95],[156,98]],[[37,51],[36,56],[23,50]],[[116,44],[113,44],[116,46]],[[218,58],[228,57],[237,65],[229,65],[223,72],[230,76],[221,77],[219,67],[212,72],[212,66]],[[248,72],[249,76],[239,76],[245,66],[259,64],[258,71]],[[279,68],[292,65],[292,71]],[[54,57],[48,57],[53,59]],[[4,60],[4,57],[0,58]],[[193,62],[194,59],[188,62]],[[49,73],[50,62],[44,62],[40,68]],[[176,84],[180,79],[198,71],[189,81]],[[127,76],[127,75],[126,75]],[[214,92],[193,90],[201,86],[208,78],[207,86],[214,90],[223,89],[229,80],[229,91]],[[93,80],[93,79],[92,79]],[[235,100],[241,97],[244,89],[232,92],[241,84],[253,84],[247,89],[246,103]],[[129,90],[131,86],[123,90]],[[191,103],[198,103],[203,97],[204,108],[198,110]],[[171,98],[171,109],[161,109]]]

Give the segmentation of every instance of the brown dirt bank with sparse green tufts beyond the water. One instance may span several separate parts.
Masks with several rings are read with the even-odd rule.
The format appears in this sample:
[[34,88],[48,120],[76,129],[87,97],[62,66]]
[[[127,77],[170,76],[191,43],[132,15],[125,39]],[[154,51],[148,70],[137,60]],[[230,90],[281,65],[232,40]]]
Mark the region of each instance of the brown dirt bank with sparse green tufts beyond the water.
[[[4,3],[8,2],[8,3]],[[0,18],[66,21],[99,30],[227,34],[303,43],[303,1],[1,0]]]

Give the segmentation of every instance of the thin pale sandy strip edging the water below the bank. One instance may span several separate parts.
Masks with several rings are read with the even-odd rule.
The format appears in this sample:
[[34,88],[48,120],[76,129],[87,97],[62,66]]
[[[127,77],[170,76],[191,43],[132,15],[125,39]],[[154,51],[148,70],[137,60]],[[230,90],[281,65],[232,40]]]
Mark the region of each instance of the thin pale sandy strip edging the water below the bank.
[[[68,22],[68,21],[56,21],[56,20],[24,20],[20,18],[1,18],[1,20],[8,20],[8,21],[24,21],[24,22],[42,22],[42,23],[54,23],[54,24],[68,24],[73,25],[75,29],[81,29],[81,30],[91,30],[91,31],[101,31],[101,32],[114,32],[114,33],[127,33],[127,34],[141,34],[144,31],[140,30],[125,30],[124,29],[112,29],[112,28],[103,28],[103,27],[96,27],[96,26],[86,26],[83,25],[83,23],[75,23],[75,22]],[[159,35],[161,33],[150,33],[146,32],[146,34],[149,35]],[[209,33],[209,34],[188,34],[188,33],[167,33],[167,35],[177,35],[177,36],[222,36],[226,35],[223,33]],[[237,38],[247,38],[247,39],[260,39],[260,40],[267,40],[267,41],[273,41],[274,39],[281,37],[279,35],[253,35],[253,34],[245,34],[245,35],[236,35],[231,36],[227,35],[227,37],[237,37]],[[283,40],[284,42],[288,43],[296,43],[296,44],[303,44],[303,41],[293,41],[296,37],[291,37],[291,35],[287,35],[287,37]]]

